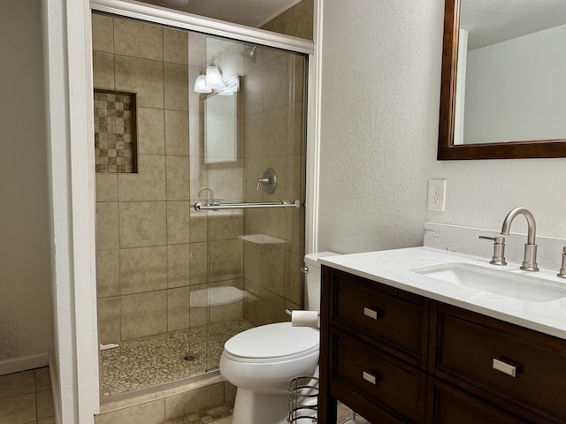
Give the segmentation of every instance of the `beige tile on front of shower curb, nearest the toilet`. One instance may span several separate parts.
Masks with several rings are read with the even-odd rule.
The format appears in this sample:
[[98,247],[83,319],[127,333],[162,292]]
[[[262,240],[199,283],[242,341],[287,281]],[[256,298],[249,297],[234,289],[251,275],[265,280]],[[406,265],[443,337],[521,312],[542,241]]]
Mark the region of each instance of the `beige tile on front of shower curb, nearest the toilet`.
[[224,404],[224,382],[165,398],[165,420]]

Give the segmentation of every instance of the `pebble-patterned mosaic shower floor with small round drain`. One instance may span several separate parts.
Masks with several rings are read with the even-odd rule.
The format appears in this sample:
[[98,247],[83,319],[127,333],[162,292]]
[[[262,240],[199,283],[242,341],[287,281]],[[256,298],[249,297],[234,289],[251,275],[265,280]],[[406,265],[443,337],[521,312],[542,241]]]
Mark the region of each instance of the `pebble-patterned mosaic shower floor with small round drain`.
[[[101,352],[103,397],[174,382],[218,367],[226,340],[253,327],[244,320],[130,340]],[[190,353],[195,360],[183,357]]]

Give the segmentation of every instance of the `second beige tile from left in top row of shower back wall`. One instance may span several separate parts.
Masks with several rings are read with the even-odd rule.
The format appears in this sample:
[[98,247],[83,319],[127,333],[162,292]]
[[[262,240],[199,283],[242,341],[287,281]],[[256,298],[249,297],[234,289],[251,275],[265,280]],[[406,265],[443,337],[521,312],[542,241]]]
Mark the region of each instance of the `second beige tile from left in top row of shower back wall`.
[[114,52],[163,60],[163,29],[129,19],[114,19]]

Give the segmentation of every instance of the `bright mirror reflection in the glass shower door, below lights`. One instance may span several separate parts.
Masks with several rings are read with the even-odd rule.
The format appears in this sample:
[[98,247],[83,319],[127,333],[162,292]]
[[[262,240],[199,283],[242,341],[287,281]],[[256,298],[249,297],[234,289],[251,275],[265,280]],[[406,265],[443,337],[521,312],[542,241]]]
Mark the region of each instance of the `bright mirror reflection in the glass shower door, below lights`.
[[238,92],[204,98],[204,163],[238,160]]

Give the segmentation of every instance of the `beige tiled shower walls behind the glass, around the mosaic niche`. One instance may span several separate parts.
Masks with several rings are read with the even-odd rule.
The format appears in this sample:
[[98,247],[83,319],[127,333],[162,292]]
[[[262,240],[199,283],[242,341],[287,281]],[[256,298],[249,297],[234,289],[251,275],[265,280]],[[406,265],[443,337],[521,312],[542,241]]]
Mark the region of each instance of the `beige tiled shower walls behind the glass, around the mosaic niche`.
[[[257,325],[287,319],[284,309],[302,303],[302,211],[220,215],[190,205],[210,196],[200,193],[207,186],[219,200],[303,199],[304,58],[260,48],[252,63],[240,45],[218,58],[223,72],[241,75],[240,153],[234,163],[206,164],[203,98],[192,90],[205,36],[95,14],[93,49],[95,87],[136,93],[139,139],[137,174],[96,175],[101,343],[239,318],[242,307]],[[256,192],[266,167],[279,178],[271,196]],[[191,304],[191,293],[225,285],[244,289],[243,302]]]

